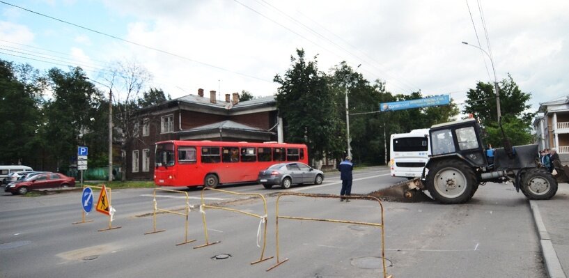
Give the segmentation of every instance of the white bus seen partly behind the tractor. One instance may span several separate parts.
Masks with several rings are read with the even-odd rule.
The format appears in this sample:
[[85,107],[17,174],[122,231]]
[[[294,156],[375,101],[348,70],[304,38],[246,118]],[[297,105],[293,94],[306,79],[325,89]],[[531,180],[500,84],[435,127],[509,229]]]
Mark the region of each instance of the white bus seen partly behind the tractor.
[[430,155],[429,129],[391,134],[389,161],[391,176],[420,177]]

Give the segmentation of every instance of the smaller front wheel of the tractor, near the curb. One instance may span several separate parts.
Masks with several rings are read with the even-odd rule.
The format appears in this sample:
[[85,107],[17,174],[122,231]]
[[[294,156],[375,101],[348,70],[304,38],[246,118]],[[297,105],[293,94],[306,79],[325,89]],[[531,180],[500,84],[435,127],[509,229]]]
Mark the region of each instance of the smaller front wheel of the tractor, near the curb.
[[529,169],[522,178],[520,189],[530,200],[549,200],[557,192],[557,180],[545,169]]

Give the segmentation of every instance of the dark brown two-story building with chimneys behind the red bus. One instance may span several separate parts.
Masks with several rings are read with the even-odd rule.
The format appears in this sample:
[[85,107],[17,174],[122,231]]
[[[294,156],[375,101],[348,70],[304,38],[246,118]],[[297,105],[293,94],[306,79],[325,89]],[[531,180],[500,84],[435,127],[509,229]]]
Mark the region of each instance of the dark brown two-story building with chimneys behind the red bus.
[[238,93],[217,100],[186,95],[146,107],[137,114],[137,138],[123,155],[128,180],[150,180],[154,175],[154,146],[165,140],[283,141],[283,121],[274,96],[240,102]]

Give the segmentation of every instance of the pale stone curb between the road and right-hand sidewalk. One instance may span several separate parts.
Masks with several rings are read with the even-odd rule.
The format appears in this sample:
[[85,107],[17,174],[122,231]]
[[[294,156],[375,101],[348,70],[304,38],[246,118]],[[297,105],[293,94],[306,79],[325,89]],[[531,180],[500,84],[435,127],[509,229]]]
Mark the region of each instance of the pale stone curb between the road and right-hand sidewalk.
[[545,268],[547,269],[547,274],[550,278],[567,278],[561,268],[561,262],[559,257],[555,252],[549,233],[545,229],[545,224],[543,224],[543,219],[539,212],[538,203],[536,201],[530,200],[529,207],[533,213],[533,220],[536,222],[536,229],[538,230],[541,252],[543,252],[543,258],[545,259]]

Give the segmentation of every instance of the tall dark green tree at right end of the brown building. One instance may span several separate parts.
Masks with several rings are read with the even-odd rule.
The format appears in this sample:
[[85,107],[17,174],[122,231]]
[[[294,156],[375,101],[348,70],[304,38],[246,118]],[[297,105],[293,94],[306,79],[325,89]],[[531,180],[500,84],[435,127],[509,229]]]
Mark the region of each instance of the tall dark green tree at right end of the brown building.
[[304,50],[297,49],[297,57],[290,57],[291,68],[283,77],[275,75],[280,84],[276,107],[285,121],[285,140],[305,143],[309,160],[320,160],[338,146],[338,118],[334,98],[323,72],[314,61],[305,61]]

